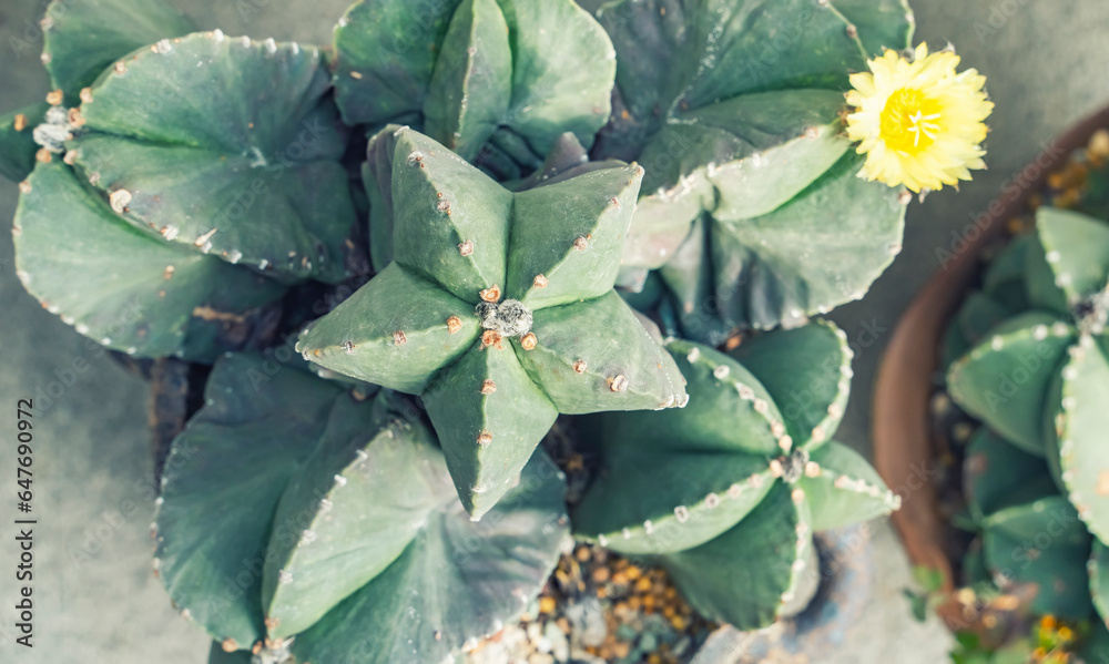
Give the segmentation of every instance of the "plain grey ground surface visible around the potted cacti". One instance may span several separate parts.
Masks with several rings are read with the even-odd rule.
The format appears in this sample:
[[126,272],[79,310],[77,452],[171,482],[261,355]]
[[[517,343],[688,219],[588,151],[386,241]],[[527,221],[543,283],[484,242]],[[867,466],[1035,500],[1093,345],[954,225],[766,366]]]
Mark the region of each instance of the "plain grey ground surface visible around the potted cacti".
[[[177,0],[202,28],[228,34],[326,43],[347,0]],[[35,21],[43,0],[0,0],[0,113],[42,99],[44,72]],[[909,212],[905,249],[859,303],[833,318],[858,349],[854,395],[840,438],[868,450],[867,409],[875,367],[898,315],[938,266],[974,215],[1050,140],[1109,103],[1109,3],[1102,0],[920,0],[917,39],[957,44],[966,65],[989,76],[997,103],[990,124],[990,171],[962,193],[945,191]],[[295,28],[289,28],[295,27]],[[27,48],[22,48],[22,47]],[[0,218],[14,211],[17,188],[0,182]],[[35,428],[35,647],[14,644],[17,550],[11,525],[0,527],[0,660],[202,664],[204,635],[174,614],[150,574],[146,497],[147,390],[49,315],[14,278],[11,242],[0,238],[0,431],[14,430],[16,400],[65,376],[72,385]],[[10,445],[3,436],[2,445]],[[0,523],[13,510],[12,452],[0,452]],[[901,591],[908,568],[884,522],[874,524],[878,583],[864,621],[843,652],[822,662],[937,664],[949,637],[935,621],[915,623]]]

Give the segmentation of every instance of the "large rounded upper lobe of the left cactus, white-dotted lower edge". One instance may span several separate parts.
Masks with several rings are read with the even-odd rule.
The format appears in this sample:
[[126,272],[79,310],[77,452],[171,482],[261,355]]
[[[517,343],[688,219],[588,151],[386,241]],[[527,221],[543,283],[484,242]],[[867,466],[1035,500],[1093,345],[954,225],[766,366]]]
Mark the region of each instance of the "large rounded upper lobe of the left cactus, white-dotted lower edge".
[[282,279],[339,282],[355,214],[328,89],[313,47],[163,40],[98,79],[70,149],[139,228]]

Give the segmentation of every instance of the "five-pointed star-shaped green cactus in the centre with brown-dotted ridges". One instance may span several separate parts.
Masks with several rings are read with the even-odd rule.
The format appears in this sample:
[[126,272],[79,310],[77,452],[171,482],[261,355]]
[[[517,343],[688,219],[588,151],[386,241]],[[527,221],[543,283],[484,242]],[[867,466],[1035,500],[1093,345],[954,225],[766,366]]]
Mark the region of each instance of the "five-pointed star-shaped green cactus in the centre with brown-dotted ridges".
[[558,413],[684,405],[673,359],[612,290],[642,168],[512,193],[418,132],[395,140],[394,261],[298,349],[423,396],[471,515]]

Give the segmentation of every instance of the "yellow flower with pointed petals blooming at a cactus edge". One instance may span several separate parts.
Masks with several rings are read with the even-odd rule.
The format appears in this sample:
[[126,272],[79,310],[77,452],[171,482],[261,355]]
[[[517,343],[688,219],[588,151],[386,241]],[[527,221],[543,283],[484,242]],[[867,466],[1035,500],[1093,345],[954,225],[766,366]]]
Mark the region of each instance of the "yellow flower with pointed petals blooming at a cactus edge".
[[994,110],[983,85],[986,76],[968,69],[956,73],[959,58],[949,51],[916,48],[913,60],[886,51],[853,74],[847,103],[847,136],[858,141],[866,163],[859,177],[914,192],[958,186],[971,168],[985,168],[983,122]]

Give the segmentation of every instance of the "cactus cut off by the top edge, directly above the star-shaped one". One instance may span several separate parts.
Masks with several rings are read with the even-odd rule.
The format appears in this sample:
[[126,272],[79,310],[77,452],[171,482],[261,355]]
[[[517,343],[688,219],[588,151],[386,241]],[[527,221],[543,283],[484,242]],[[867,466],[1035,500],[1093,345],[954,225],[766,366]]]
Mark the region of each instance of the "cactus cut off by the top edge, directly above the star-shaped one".
[[506,177],[609,119],[615,54],[572,0],[363,0],[335,54],[348,124],[408,123]]

